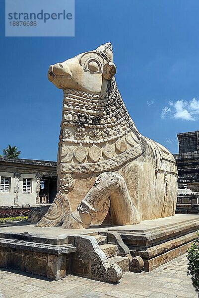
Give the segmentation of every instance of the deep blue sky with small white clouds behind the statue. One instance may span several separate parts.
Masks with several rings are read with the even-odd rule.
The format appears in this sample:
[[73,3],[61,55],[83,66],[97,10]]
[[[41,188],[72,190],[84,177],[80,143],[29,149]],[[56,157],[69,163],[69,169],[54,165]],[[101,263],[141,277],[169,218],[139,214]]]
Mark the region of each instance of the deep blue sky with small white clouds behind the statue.
[[[116,80],[138,130],[173,153],[199,129],[199,1],[75,0],[75,37],[4,37],[0,1],[0,151],[56,160],[62,90],[50,64],[111,41]],[[56,3],[56,1],[55,1]]]

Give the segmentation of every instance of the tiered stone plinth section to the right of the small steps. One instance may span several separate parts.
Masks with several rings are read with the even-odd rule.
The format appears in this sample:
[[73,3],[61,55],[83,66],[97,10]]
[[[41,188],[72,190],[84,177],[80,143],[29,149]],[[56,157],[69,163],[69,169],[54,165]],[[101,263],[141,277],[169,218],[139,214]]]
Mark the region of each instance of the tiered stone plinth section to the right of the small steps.
[[[143,270],[149,272],[186,253],[198,229],[199,215],[175,215],[110,230],[117,230],[132,256],[141,257]],[[135,272],[136,266],[133,268]]]

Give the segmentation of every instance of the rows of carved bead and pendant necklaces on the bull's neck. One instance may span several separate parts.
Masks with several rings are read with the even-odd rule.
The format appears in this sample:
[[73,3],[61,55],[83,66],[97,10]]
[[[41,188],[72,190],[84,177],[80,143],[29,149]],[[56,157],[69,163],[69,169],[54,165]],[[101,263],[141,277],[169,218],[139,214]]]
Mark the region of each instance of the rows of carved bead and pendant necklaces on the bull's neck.
[[58,154],[62,173],[111,170],[145,150],[115,78],[109,84],[100,95],[64,90]]

